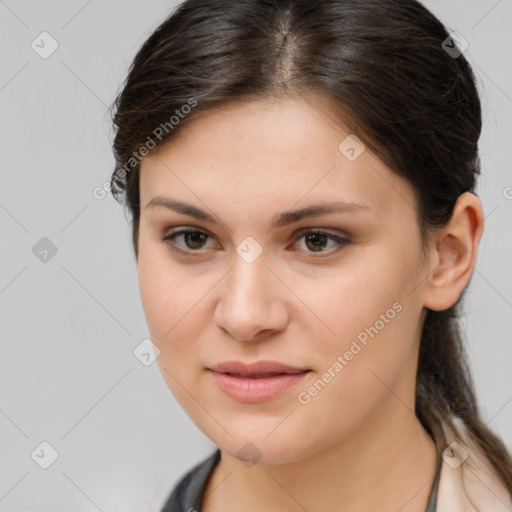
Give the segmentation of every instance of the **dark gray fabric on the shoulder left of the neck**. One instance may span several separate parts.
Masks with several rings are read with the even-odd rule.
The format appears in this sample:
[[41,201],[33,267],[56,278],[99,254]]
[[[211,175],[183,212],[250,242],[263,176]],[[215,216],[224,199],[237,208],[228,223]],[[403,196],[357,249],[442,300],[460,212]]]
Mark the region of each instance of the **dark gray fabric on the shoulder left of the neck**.
[[174,486],[161,512],[197,512],[208,477],[219,458],[220,450],[217,449],[189,469]]

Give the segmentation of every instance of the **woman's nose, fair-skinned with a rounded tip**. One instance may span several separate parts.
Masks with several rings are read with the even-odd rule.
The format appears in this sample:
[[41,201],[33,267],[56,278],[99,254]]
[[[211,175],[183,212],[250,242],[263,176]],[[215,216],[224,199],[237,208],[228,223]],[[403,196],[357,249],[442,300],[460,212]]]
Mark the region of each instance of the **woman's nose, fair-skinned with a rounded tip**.
[[285,295],[290,292],[267,267],[263,254],[252,263],[237,255],[218,289],[214,321],[233,338],[258,341],[288,325]]

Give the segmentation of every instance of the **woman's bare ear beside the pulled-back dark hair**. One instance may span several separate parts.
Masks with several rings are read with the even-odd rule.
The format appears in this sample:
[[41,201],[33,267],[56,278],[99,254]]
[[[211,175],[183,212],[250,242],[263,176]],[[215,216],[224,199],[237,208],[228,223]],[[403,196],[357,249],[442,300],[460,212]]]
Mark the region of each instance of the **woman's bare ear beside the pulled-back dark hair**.
[[471,192],[465,192],[457,199],[450,222],[434,235],[425,307],[442,311],[457,302],[473,274],[483,231],[480,200]]

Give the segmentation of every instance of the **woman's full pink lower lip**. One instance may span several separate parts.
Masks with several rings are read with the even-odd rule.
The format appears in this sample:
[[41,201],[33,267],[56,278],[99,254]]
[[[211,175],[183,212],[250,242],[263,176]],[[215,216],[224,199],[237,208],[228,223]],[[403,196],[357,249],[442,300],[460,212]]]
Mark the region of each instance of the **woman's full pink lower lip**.
[[296,386],[309,372],[287,373],[273,377],[247,378],[210,370],[217,386],[239,402],[265,402]]

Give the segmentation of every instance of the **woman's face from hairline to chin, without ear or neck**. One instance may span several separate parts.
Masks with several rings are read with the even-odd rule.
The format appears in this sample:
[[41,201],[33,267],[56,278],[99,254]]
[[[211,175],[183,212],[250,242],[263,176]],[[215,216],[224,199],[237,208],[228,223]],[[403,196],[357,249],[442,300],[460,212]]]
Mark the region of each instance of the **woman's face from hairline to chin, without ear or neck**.
[[[269,463],[318,453],[403,408],[390,389],[413,407],[427,272],[413,191],[329,112],[313,95],[223,106],[141,163],[139,285],[157,361],[233,456],[247,443]],[[334,202],[359,206],[282,215]],[[252,379],[232,395],[209,369],[233,360],[309,371],[260,386],[277,394],[244,391]]]

